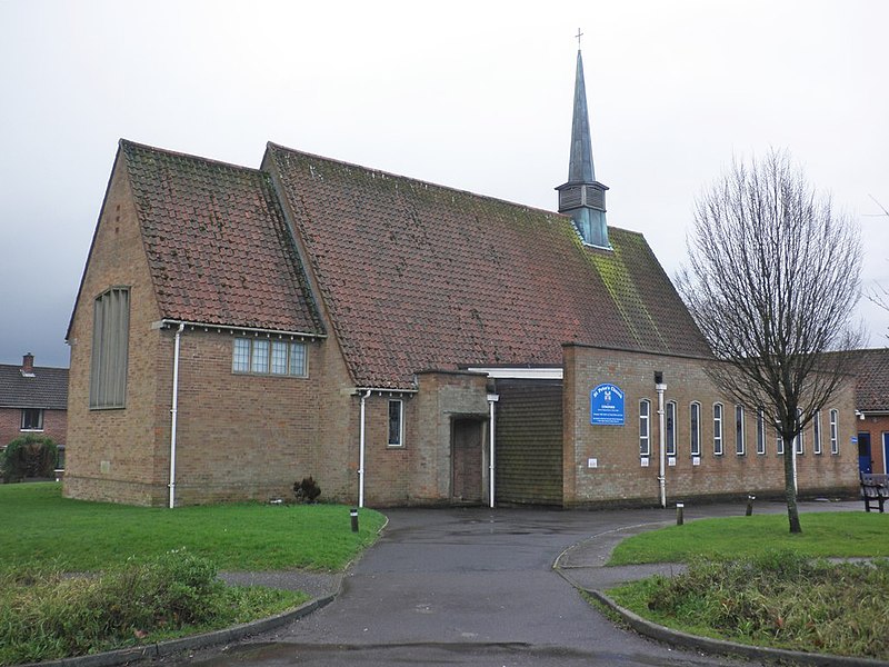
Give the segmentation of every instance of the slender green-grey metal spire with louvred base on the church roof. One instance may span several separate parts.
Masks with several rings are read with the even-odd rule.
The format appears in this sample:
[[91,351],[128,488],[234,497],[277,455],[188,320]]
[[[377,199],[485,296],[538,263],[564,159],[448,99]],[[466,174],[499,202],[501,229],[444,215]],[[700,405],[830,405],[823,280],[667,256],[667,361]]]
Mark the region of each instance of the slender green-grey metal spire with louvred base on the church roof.
[[575,111],[571,121],[571,153],[568,162],[568,182],[559,191],[559,212],[570,213],[583,242],[599,248],[610,248],[606,223],[606,186],[596,180],[592,166],[592,141],[587,111],[587,88],[583,80],[583,58],[580,54],[578,30],[577,78],[575,80]]

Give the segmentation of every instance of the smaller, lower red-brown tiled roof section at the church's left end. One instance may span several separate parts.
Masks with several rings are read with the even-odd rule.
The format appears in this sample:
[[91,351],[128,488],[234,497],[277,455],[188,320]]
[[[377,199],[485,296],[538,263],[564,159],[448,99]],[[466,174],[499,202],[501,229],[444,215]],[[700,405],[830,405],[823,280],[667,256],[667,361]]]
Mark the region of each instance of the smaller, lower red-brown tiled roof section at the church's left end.
[[164,318],[323,334],[268,175],[120,142]]

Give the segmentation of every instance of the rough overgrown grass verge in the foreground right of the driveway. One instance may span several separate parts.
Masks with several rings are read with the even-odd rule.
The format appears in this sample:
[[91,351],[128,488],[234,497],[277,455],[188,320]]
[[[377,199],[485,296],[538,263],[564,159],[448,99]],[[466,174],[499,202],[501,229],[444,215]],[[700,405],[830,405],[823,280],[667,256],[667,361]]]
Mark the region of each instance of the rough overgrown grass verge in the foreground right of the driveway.
[[830,564],[790,551],[732,561],[697,559],[685,574],[652,577],[608,594],[639,616],[693,635],[889,658],[886,559]]

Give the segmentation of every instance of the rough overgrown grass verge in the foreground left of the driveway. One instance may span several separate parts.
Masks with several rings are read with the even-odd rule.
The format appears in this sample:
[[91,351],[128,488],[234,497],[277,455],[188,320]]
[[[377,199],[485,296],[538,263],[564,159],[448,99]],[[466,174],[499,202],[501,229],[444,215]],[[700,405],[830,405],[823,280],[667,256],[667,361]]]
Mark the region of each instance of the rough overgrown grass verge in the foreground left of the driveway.
[[302,593],[228,587],[183,550],[92,576],[0,575],[0,666],[82,656],[219,629],[291,609]]

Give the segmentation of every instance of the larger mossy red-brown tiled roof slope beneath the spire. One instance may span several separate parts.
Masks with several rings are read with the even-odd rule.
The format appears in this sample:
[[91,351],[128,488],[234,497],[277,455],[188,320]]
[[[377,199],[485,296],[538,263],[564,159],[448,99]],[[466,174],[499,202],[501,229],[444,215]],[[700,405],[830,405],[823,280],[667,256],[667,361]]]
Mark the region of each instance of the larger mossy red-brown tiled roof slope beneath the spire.
[[649,249],[610,229],[585,247],[570,218],[292,151],[280,179],[359,386],[418,370],[560,365],[566,342],[708,356]]

